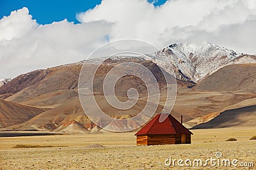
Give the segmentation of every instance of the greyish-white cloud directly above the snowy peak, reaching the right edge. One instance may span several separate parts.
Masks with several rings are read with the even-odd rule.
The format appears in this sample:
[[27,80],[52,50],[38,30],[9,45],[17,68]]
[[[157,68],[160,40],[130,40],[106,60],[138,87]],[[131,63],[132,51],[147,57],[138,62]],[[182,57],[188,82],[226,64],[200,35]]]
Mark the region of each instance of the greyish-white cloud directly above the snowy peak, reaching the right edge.
[[170,43],[168,38],[181,43],[200,44],[206,41],[237,52],[255,54],[255,4],[255,1],[232,1],[206,15],[197,25],[166,29],[159,36],[159,41]]

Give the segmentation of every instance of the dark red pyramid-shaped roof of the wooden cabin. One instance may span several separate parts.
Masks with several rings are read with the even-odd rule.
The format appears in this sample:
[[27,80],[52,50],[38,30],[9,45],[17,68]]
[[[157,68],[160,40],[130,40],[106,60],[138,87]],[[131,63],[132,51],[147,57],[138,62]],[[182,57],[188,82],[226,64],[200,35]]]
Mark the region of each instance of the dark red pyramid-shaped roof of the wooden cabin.
[[[162,113],[163,114],[163,113]],[[166,114],[166,113],[164,113]],[[166,114],[166,119],[159,122],[161,114],[156,115],[135,135],[141,134],[193,134],[184,125],[180,124],[172,115]]]

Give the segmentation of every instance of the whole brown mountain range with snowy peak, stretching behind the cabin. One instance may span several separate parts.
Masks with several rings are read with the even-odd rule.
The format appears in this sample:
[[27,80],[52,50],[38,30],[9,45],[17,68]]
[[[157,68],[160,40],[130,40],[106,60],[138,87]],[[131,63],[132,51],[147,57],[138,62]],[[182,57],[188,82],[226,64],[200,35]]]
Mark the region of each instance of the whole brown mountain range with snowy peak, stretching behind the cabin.
[[[200,46],[175,43],[159,52],[147,54],[147,57],[110,58],[95,74],[94,95],[102,104],[101,108],[115,118],[134,117],[147,101],[143,81],[129,75],[116,82],[116,96],[125,101],[127,90],[133,87],[140,94],[138,103],[127,111],[115,110],[106,103],[101,89],[102,80],[112,67],[125,61],[147,67],[156,76],[161,96],[166,96],[166,84],[158,66],[167,73],[174,71],[177,99],[171,114],[178,120],[183,115],[187,127],[255,125],[251,121],[256,115],[255,55],[236,53],[211,43]],[[90,69],[96,62],[97,59],[84,60],[31,71],[3,84],[0,87],[1,130],[103,132],[84,114],[77,92],[81,67],[86,64]],[[156,113],[161,112],[163,105],[161,101]],[[118,126],[132,125],[136,122]]]

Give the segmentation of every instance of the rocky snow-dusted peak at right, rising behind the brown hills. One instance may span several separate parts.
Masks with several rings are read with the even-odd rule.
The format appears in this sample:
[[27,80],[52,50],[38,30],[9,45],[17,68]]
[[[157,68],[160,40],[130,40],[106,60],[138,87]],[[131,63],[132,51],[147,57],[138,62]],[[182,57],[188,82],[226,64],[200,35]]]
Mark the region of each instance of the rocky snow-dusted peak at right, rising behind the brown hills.
[[189,78],[195,82],[238,57],[236,52],[211,43],[200,46],[175,43],[157,52],[156,58],[161,59],[163,55],[185,76],[180,75],[180,78]]

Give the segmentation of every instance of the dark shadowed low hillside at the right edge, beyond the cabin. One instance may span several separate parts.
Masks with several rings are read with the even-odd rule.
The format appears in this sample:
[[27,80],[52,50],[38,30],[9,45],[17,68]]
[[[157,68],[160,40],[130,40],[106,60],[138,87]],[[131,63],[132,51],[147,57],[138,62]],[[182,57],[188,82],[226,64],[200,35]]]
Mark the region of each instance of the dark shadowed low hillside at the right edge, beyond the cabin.
[[205,124],[196,125],[192,129],[211,129],[222,127],[256,127],[256,105],[226,110]]

